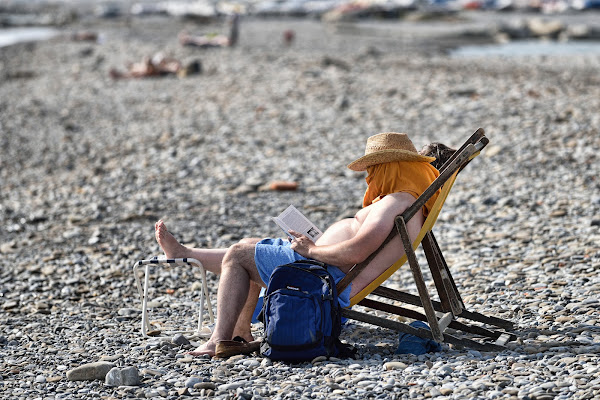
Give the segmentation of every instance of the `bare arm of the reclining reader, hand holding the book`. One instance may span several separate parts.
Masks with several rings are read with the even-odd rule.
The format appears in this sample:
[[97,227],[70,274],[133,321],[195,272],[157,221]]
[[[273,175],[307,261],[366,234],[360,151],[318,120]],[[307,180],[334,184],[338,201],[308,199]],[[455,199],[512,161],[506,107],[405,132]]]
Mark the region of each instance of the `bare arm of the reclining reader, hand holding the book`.
[[[396,215],[402,214],[414,200],[407,193],[384,197],[371,206],[356,235],[340,243],[317,246],[306,236],[293,232],[296,239],[292,242],[292,249],[304,257],[338,266],[343,272],[348,272],[353,265],[364,261],[381,246],[394,227]],[[416,223],[418,232],[423,221],[415,216],[410,222],[412,225]]]

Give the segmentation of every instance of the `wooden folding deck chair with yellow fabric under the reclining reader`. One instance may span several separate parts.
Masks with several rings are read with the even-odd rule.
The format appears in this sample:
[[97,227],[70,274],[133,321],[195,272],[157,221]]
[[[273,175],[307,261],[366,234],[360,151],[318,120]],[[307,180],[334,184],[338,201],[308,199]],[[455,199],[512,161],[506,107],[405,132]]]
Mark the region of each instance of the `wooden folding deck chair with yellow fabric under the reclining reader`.
[[[446,264],[446,261],[442,255],[440,246],[438,245],[432,232],[433,226],[435,225],[442,206],[448,198],[450,190],[452,189],[459,172],[473,158],[475,158],[488,143],[489,140],[487,137],[485,137],[483,129],[478,129],[440,168],[439,177],[425,190],[425,192],[423,192],[421,196],[419,196],[418,199],[416,199],[413,205],[409,207],[403,214],[396,216],[395,228],[392,229],[392,232],[383,242],[381,247],[365,261],[355,265],[344,277],[344,279],[342,279],[337,285],[338,293],[341,293],[348,287],[352,280],[364,270],[364,268],[379,253],[379,251],[385,247],[390,240],[392,240],[392,238],[394,238],[396,235],[400,235],[400,239],[402,240],[404,246],[405,255],[402,256],[392,266],[390,266],[386,271],[384,271],[367,287],[354,295],[350,299],[350,307],[358,304],[360,306],[364,306],[367,310],[373,309],[384,311],[389,314],[426,321],[429,323],[431,331],[414,328],[406,323],[374,316],[369,312],[351,310],[350,308],[342,310],[342,315],[344,317],[393,329],[398,332],[409,333],[425,339],[433,339],[440,343],[446,342],[457,347],[470,347],[481,351],[503,350],[506,342],[515,339],[514,335],[506,331],[492,330],[488,327],[485,327],[486,325],[493,325],[504,330],[511,330],[513,328],[512,322],[503,320],[501,318],[488,317],[480,313],[469,312],[466,310],[448,265]],[[433,196],[440,188],[441,192],[429,215],[427,216],[419,235],[411,244],[408,231],[406,229],[407,221],[409,221],[418,211],[420,211],[425,203],[431,198],[431,196]],[[427,290],[425,280],[415,254],[415,250],[418,248],[419,244],[425,253],[425,257],[429,265],[429,269],[431,270],[431,276],[437,289],[440,301],[432,301],[431,297],[429,296],[429,292]],[[417,286],[419,294],[418,296],[381,286],[382,283],[390,278],[392,274],[394,274],[394,272],[396,272],[407,260]],[[369,297],[367,298],[367,296]],[[389,302],[374,300],[372,298],[374,296],[417,306],[423,309],[424,314],[414,309],[407,309],[395,304],[390,304]],[[439,319],[438,315],[440,315]],[[479,324],[475,325],[460,322],[457,320],[459,317],[478,322]],[[450,328],[452,331],[462,331],[475,335],[479,338],[479,340],[475,340],[477,338],[454,336],[454,334],[449,333],[450,330],[448,328]]]

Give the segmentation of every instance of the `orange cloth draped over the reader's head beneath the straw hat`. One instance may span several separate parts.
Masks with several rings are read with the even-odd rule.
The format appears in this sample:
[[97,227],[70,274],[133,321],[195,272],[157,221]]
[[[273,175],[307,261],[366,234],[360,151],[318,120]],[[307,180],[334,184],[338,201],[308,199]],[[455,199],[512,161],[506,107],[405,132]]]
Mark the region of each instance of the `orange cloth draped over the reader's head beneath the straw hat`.
[[[363,207],[367,207],[384,196],[406,192],[418,198],[440,175],[435,167],[422,161],[394,161],[367,167],[367,191],[363,199]],[[423,214],[427,216],[440,194],[438,190],[425,203]]]

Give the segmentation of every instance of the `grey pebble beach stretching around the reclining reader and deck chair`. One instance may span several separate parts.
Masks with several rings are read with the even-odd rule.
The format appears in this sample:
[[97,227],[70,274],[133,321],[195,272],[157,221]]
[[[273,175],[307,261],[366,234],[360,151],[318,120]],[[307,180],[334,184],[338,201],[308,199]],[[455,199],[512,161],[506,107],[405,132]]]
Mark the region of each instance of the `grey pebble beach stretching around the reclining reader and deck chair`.
[[[452,56],[495,20],[242,18],[235,47],[200,49],[178,35],[224,21],[85,19],[0,48],[0,398],[600,397],[600,54]],[[201,69],[111,77],[157,53]],[[156,220],[211,248],[281,236],[290,204],[325,228],[361,206],[346,165],[368,136],[459,147],[479,127],[434,232],[467,308],[515,323],[504,351],[395,354],[359,322],[356,359],[302,364],[142,337],[132,266],[160,254]],[[416,293],[405,267],[389,285]],[[194,328],[199,277],[153,269],[154,328]]]

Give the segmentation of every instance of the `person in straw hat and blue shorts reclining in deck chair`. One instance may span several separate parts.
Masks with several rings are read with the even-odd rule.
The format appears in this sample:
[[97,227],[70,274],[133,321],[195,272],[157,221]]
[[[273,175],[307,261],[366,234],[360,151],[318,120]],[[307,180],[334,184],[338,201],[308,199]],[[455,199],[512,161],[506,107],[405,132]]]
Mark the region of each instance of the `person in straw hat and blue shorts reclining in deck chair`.
[[[158,221],[155,236],[167,258],[195,258],[207,270],[221,274],[215,329],[210,339],[190,354],[231,355],[226,346],[236,336],[251,342],[240,344],[240,353],[258,350],[258,342],[252,342],[250,321],[260,287],[266,287],[273,270],[282,264],[310,258],[327,264],[336,283],[339,282],[352,266],[364,261],[381,246],[393,229],[394,218],[410,207],[439,176],[438,170],[430,164],[434,160],[419,154],[406,134],[391,132],[371,136],[365,155],[348,165],[354,171],[368,173],[363,208],[354,218],[334,223],[316,243],[290,231],[293,236],[290,241],[243,239],[226,249],[188,248],[175,239],[162,220]],[[425,204],[421,213],[408,221],[412,240],[418,235],[438,194]],[[403,254],[400,238],[396,237],[339,295],[341,306],[349,306],[351,296]]]

